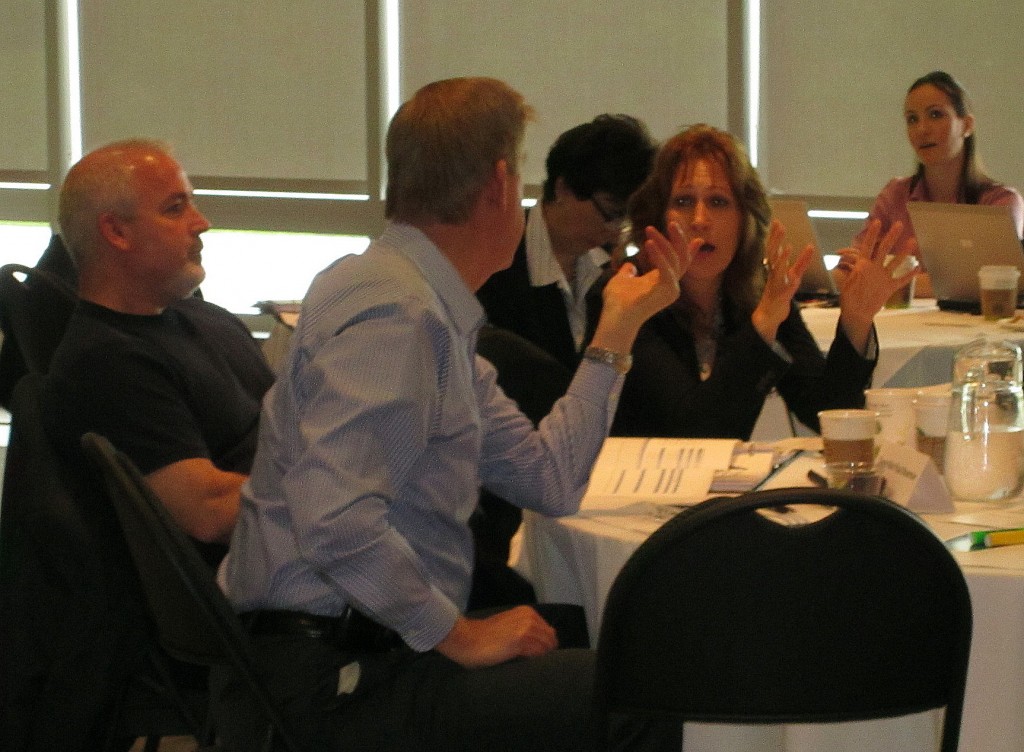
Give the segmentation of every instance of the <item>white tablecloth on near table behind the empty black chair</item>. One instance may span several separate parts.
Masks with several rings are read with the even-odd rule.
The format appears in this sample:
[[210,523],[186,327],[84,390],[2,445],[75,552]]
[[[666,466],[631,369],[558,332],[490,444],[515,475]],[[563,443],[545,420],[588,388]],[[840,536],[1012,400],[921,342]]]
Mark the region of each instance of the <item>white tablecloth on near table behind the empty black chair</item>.
[[[807,463],[820,460],[807,460]],[[788,481],[802,485],[807,464],[795,463]],[[970,517],[965,516],[971,514]],[[927,515],[943,538],[969,530],[1024,527],[1024,509],[957,505],[955,515]],[[962,521],[956,521],[962,520]],[[660,525],[653,514],[549,519],[526,514],[518,568],[543,601],[579,603],[596,639],[605,596],[630,554]],[[1024,749],[1024,546],[955,554],[974,609],[962,752]],[[938,713],[828,726],[722,726],[690,724],[686,752],[892,752],[932,749]]]

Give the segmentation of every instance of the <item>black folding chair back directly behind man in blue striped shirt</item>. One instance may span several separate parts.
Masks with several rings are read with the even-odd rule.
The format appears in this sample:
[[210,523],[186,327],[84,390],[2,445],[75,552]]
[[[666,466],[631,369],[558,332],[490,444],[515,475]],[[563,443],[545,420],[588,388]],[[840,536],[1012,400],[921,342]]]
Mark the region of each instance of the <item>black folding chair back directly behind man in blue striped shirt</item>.
[[102,474],[164,650],[182,661],[228,666],[247,685],[285,748],[297,750],[259,678],[252,639],[209,566],[126,455],[96,433],[82,436],[82,447]]

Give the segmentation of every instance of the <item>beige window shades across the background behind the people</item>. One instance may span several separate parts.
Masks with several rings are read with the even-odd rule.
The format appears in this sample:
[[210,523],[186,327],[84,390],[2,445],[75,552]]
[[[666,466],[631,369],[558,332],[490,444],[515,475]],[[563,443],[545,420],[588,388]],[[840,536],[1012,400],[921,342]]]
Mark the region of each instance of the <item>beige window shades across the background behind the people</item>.
[[[0,180],[59,180],[45,127],[44,7],[65,2],[0,3],[0,70],[8,74],[0,77]],[[159,13],[129,0],[80,4],[87,149],[126,135],[158,136],[176,144],[199,187],[370,197],[204,199],[218,226],[375,232],[387,117],[382,0],[180,0]],[[934,68],[957,75],[972,91],[980,151],[993,176],[1024,185],[1017,73],[1024,6],[762,5],[757,145],[771,190],[808,196],[812,206],[865,208],[889,177],[912,167],[903,92]],[[658,138],[695,121],[745,136],[744,12],[742,0],[407,2],[400,89],[407,94],[452,75],[509,80],[540,113],[525,168],[527,181],[539,183],[553,138],[600,112],[641,117]],[[46,212],[45,196],[0,190],[0,219],[45,219]],[[826,237],[848,229],[819,222]]]

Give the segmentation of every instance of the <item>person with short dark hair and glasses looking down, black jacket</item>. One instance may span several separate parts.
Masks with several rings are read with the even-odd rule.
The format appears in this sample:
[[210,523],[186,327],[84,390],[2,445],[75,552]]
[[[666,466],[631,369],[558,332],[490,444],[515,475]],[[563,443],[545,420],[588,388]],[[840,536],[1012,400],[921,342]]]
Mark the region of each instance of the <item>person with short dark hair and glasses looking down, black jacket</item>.
[[[478,352],[535,423],[568,387],[601,312],[608,251],[618,243],[630,196],[656,151],[628,115],[599,115],[571,128],[548,153],[544,197],[528,212],[512,265],[477,291],[488,326]],[[508,567],[520,510],[486,491],[473,517],[474,608],[532,602],[534,589]]]

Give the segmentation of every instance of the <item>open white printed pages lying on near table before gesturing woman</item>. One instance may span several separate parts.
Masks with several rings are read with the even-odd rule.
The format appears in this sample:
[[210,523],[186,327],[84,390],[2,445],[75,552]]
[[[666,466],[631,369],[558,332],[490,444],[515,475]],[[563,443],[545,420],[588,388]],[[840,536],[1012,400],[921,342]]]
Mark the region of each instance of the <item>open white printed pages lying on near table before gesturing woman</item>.
[[759,465],[761,477],[771,471],[771,453],[734,456],[738,445],[733,438],[606,438],[580,511],[593,514],[642,504],[696,504],[708,498],[716,472],[732,467],[733,481],[745,484],[754,464]]

